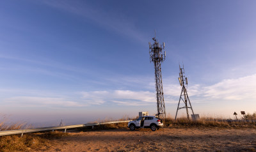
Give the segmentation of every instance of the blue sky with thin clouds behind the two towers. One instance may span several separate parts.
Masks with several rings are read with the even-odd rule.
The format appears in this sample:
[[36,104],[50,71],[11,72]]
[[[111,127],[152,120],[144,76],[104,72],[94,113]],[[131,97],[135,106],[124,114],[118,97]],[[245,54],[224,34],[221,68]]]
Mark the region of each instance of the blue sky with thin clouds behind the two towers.
[[255,112],[255,4],[1,1],[1,114],[41,125],[156,114],[154,29],[166,45],[167,113],[177,109],[182,63],[195,113]]

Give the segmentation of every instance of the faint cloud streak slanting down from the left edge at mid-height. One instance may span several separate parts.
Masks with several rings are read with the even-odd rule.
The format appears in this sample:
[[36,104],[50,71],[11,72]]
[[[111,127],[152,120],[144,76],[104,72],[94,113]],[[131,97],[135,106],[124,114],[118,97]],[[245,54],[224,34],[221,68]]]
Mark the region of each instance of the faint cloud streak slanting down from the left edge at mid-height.
[[[86,77],[102,78],[97,70],[88,69],[86,67],[79,68],[77,66],[67,65],[53,61],[51,59],[45,59],[38,57],[38,59],[27,59],[26,57],[16,57],[13,55],[0,54],[0,58],[9,60],[10,64],[0,65],[0,70],[15,71],[15,72],[33,72],[43,75],[49,75],[51,77],[58,77],[60,79],[70,80],[72,82],[88,82],[89,80],[79,77],[84,75]],[[14,62],[13,62],[14,61]],[[106,84],[99,80],[90,80],[94,84]]]

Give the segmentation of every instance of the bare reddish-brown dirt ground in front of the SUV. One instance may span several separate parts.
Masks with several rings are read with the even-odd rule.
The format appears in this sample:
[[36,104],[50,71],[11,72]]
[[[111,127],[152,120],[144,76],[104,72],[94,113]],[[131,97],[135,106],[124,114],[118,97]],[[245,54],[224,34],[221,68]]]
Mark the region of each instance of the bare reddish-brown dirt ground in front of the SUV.
[[255,128],[161,128],[72,132],[42,151],[256,151]]

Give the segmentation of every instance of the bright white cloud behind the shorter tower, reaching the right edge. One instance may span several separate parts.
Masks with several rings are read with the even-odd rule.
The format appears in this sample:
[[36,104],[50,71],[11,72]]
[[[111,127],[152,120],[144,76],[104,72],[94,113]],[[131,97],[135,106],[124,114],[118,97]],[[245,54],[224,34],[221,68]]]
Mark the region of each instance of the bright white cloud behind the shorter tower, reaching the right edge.
[[[203,86],[194,84],[188,86],[188,95],[191,102],[212,102],[218,100],[222,102],[230,101],[252,101],[256,100],[256,74],[237,79],[225,79],[220,82]],[[164,87],[164,99],[166,103],[178,102],[181,87],[178,84],[167,84]]]

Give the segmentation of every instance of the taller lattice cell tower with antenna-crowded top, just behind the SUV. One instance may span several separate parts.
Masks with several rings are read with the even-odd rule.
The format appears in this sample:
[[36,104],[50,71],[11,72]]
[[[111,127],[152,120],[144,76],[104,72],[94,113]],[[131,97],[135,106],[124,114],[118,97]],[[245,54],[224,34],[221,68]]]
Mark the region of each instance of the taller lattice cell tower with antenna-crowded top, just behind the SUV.
[[166,52],[164,54],[162,50],[164,49],[164,43],[159,44],[158,40],[155,37],[152,38],[154,44],[149,44],[149,54],[150,62],[154,63],[155,66],[155,79],[156,79],[156,100],[157,100],[157,116],[160,118],[166,118],[165,106],[164,106],[164,93],[163,93],[163,82],[162,82],[162,73],[161,73],[161,63],[165,60]]

